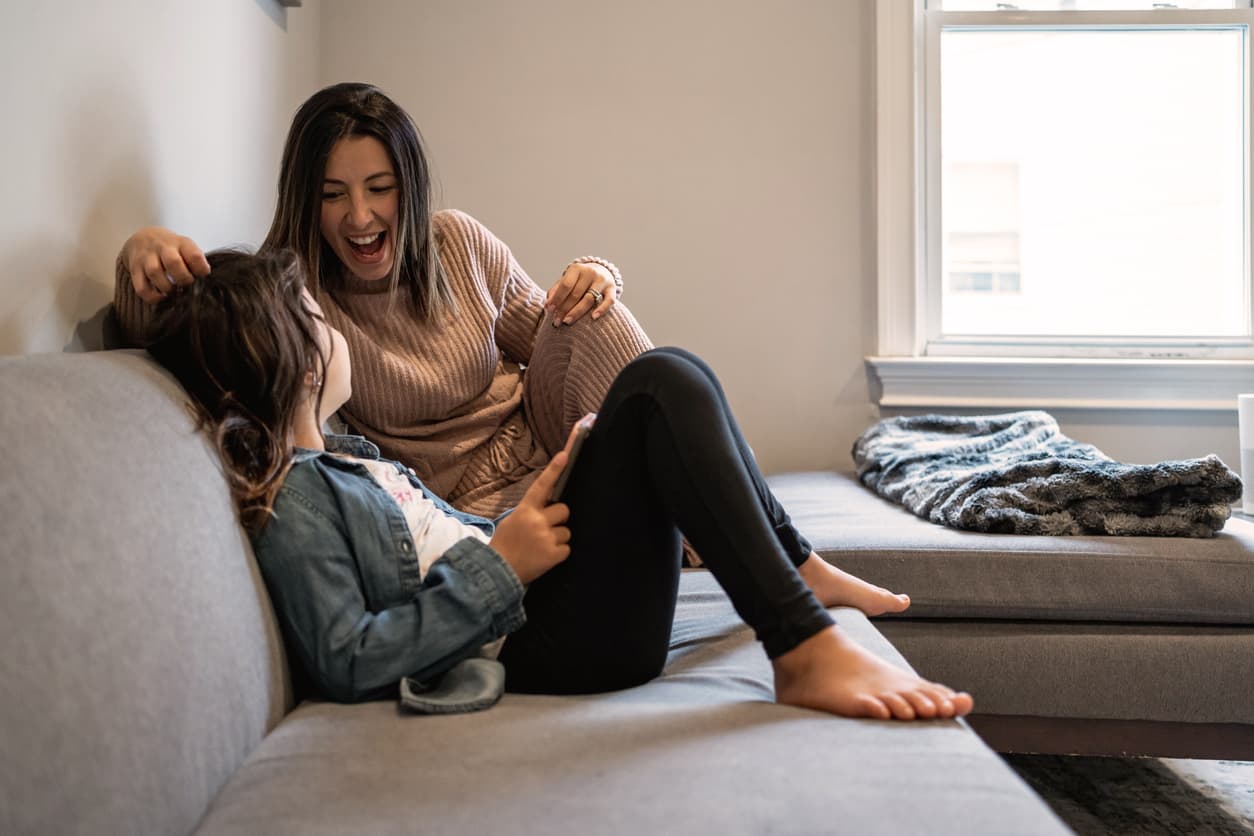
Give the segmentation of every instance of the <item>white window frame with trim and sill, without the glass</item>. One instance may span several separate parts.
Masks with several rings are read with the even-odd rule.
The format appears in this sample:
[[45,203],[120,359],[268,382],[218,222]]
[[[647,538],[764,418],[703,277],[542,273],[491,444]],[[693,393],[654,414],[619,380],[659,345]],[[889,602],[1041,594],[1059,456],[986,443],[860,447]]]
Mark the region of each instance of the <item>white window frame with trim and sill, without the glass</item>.
[[[878,311],[877,355],[868,363],[878,384],[878,402],[894,407],[1235,410],[1236,394],[1254,391],[1250,340],[933,338],[939,335],[940,234],[939,223],[928,221],[939,219],[939,143],[929,143],[927,132],[929,124],[937,125],[939,107],[939,14],[925,11],[924,0],[875,4]],[[944,14],[946,23],[958,25],[986,23],[989,15],[1042,25],[1162,23],[1161,13]],[[1245,24],[1250,26],[1246,54],[1254,44],[1251,9],[1166,14],[1176,25]],[[1254,95],[1249,65],[1246,60],[1246,94]],[[1246,119],[1251,112],[1246,107]],[[1249,144],[1254,143],[1246,150]],[[934,155],[930,165],[929,153]],[[1250,175],[1254,159],[1246,164]],[[929,173],[932,183],[925,180]],[[1248,196],[1251,192],[1246,189]],[[1246,223],[1251,214],[1246,207]],[[1254,241],[1254,229],[1246,239]]]

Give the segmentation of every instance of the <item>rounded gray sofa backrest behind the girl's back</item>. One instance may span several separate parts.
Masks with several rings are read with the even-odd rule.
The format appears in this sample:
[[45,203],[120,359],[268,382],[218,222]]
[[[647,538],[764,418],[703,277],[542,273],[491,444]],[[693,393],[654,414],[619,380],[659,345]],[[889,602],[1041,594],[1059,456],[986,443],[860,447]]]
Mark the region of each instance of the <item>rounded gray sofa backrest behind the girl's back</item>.
[[292,701],[214,450],[133,351],[0,357],[0,832],[189,832]]

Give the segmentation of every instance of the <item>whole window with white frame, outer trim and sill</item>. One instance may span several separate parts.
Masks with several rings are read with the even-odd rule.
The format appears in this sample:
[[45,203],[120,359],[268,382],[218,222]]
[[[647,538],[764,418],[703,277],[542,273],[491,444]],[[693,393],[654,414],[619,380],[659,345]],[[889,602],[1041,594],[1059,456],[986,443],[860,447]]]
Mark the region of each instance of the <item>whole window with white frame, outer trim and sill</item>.
[[880,406],[1234,415],[1251,5],[875,0]]

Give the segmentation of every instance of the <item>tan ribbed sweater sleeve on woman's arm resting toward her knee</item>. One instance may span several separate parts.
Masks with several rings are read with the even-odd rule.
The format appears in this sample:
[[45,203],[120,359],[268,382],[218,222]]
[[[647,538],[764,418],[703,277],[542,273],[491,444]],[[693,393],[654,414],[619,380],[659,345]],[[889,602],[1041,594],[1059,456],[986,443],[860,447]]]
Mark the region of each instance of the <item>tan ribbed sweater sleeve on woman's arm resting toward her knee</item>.
[[495,341],[505,356],[517,362],[529,362],[535,347],[535,335],[544,321],[544,291],[532,281],[509,247],[465,212],[440,212],[444,233],[460,238],[464,261],[456,266],[480,273],[477,278],[497,308]]

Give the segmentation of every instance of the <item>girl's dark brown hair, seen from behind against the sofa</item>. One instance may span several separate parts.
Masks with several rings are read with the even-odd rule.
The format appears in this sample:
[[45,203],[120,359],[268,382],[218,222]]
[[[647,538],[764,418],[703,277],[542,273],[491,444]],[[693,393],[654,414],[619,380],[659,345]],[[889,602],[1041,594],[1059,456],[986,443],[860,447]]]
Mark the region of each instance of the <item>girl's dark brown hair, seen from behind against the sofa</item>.
[[[292,431],[330,356],[305,305],[296,254],[208,254],[212,272],[157,308],[148,351],[192,396],[222,455],[240,521],[260,531],[292,460]],[[334,345],[334,343],[331,343]],[[321,409],[317,392],[315,410]]]

